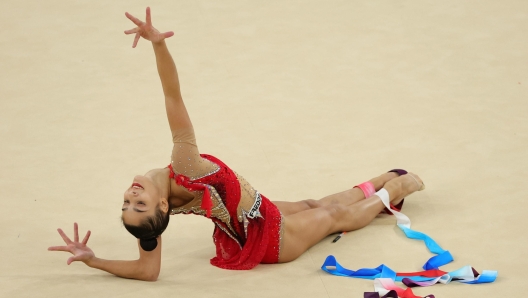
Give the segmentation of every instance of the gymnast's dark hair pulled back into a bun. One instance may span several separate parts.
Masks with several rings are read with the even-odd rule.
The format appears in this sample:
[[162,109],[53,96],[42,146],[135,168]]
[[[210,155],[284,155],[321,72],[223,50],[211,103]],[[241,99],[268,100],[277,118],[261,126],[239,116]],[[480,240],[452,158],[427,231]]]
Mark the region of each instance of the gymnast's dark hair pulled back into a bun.
[[139,244],[143,250],[151,251],[158,246],[156,238],[165,231],[169,225],[169,219],[170,212],[164,213],[158,206],[156,214],[145,218],[139,226],[126,224],[125,221],[123,221],[123,225],[130,234],[139,239]]

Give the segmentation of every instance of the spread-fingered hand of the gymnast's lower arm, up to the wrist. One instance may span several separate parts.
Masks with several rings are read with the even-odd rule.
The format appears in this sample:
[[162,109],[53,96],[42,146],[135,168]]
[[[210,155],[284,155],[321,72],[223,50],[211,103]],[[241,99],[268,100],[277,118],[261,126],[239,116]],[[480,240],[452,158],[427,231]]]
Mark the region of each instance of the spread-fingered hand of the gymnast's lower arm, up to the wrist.
[[66,262],[68,265],[75,261],[81,261],[87,264],[95,258],[94,252],[88,246],[86,246],[86,243],[88,243],[88,239],[90,238],[90,231],[86,232],[86,236],[84,236],[82,242],[79,242],[79,226],[77,225],[77,223],[73,224],[74,241],[71,241],[71,239],[68,238],[68,236],[66,236],[66,234],[62,231],[62,229],[57,229],[57,231],[59,231],[59,234],[66,243],[66,246],[51,246],[48,248],[48,250],[67,251],[73,254],[73,256],[71,256]]

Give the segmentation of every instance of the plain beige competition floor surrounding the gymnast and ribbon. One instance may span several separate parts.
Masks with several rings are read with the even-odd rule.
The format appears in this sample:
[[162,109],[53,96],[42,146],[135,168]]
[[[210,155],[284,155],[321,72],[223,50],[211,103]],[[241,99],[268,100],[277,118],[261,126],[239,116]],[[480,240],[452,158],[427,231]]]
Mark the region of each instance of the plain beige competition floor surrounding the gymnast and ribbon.
[[251,271],[211,266],[212,224],[175,216],[155,283],[48,252],[76,221],[97,256],[137,257],[122,193],[166,166],[172,145],[152,48],[123,34],[124,12],[144,19],[147,5],[175,32],[202,152],[274,200],[413,171],[427,188],[404,212],[454,255],[444,268],[499,271],[493,284],[415,292],[528,289],[528,2],[11,0],[0,2],[0,296],[362,297],[372,281],[324,273],[327,255],[398,271],[432,256],[388,216]]

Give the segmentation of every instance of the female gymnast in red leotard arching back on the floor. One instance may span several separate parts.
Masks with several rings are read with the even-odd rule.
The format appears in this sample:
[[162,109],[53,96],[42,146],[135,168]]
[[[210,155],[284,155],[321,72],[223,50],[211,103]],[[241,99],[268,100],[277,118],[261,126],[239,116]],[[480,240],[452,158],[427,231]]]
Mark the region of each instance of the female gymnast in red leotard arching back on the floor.
[[180,213],[202,215],[214,222],[216,256],[211,264],[217,267],[251,269],[260,263],[289,262],[330,234],[368,225],[384,211],[381,196],[388,195],[391,204],[401,207],[405,196],[424,188],[418,176],[392,170],[320,200],[271,202],[222,161],[199,153],[176,66],[164,41],[174,33],[156,30],[149,8],[145,22],[125,15],[137,25],[125,31],[135,34],[132,47],[143,37],[154,48],[174,143],[172,160],[165,168],[134,177],[125,191],[122,220],[138,239],[139,259],[97,258],[86,245],[90,231],[79,241],[75,223],[73,241],[58,229],[66,245],[48,248],[73,254],[68,265],[81,261],[123,278],[155,281],[161,265],[161,234],[170,215]]

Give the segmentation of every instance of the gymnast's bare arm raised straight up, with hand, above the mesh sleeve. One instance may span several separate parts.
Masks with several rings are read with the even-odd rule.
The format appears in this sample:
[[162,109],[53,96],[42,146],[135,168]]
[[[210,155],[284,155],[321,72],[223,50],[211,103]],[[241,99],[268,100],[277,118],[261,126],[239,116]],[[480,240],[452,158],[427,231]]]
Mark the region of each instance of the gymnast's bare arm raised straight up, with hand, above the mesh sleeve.
[[165,44],[165,38],[173,36],[174,33],[172,31],[160,33],[152,26],[149,7],[147,7],[145,22],[140,21],[128,12],[125,15],[137,25],[136,28],[125,31],[125,34],[136,34],[132,47],[136,47],[140,37],[152,42],[156,55],[156,65],[165,95],[165,107],[171,131],[192,127],[187,109],[183,104],[176,65]]

